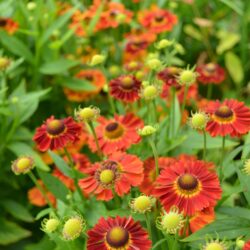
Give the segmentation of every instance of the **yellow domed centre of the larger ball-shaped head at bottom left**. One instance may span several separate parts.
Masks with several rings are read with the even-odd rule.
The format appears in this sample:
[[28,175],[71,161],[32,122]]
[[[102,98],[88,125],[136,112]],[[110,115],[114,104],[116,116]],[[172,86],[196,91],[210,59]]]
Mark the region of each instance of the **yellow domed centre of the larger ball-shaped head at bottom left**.
[[63,235],[66,239],[77,238],[83,230],[82,221],[80,218],[71,218],[66,221],[63,227]]

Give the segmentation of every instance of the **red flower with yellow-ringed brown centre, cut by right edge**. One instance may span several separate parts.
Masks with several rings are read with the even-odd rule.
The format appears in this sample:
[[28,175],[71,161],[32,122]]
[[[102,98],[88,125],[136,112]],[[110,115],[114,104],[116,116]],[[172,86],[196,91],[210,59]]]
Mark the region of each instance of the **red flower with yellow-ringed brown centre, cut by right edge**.
[[210,102],[206,113],[210,114],[206,130],[211,136],[235,137],[250,130],[250,109],[243,102],[234,99]]

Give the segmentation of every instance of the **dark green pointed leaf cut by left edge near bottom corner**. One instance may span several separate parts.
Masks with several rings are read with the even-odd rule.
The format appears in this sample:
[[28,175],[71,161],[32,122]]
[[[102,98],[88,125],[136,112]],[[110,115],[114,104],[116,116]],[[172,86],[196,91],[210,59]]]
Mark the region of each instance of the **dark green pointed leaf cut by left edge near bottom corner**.
[[27,238],[31,232],[20,227],[14,222],[0,219],[0,245],[8,245]]

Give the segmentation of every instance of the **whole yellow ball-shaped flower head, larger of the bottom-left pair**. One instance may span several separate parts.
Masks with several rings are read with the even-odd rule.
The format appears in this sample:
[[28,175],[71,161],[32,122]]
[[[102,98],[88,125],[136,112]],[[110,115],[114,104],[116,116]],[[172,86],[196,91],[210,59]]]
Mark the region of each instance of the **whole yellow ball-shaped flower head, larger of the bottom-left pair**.
[[65,221],[62,236],[65,240],[74,240],[80,236],[85,226],[85,221],[80,215],[72,216]]

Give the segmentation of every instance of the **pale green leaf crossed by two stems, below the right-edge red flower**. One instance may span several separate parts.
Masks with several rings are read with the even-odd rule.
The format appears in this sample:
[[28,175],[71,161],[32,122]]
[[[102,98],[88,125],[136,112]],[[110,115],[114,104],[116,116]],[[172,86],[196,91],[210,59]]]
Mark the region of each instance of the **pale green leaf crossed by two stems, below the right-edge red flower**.
[[[231,148],[237,146],[239,143],[232,140],[226,140],[225,147]],[[207,134],[207,148],[215,149],[221,148],[222,139],[220,137],[211,137]],[[195,131],[190,131],[188,138],[182,144],[184,148],[202,149],[203,148],[203,135]]]

